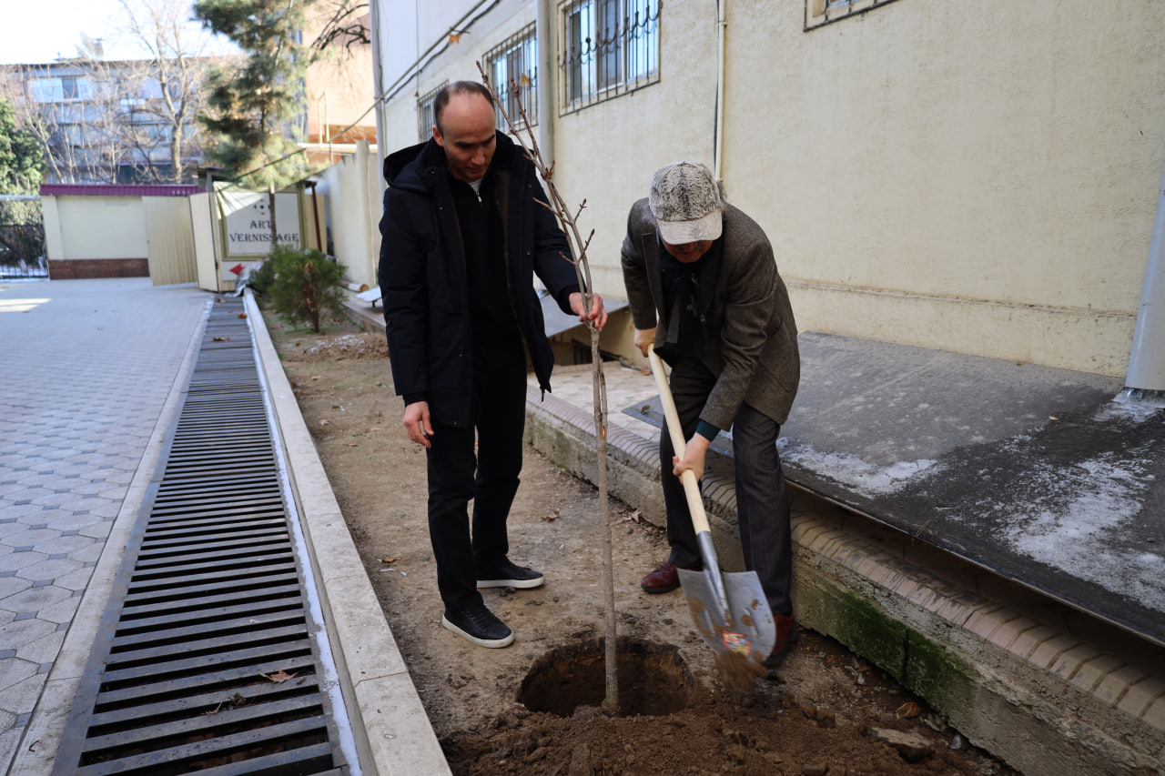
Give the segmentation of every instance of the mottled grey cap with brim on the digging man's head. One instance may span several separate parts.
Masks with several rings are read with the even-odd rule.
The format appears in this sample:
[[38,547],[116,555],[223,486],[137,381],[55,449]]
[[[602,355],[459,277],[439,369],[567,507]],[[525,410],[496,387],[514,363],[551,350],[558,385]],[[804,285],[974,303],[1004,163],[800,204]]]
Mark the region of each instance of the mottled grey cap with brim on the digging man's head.
[[699,162],[675,162],[651,176],[648,206],[670,245],[715,240],[723,230],[720,186]]

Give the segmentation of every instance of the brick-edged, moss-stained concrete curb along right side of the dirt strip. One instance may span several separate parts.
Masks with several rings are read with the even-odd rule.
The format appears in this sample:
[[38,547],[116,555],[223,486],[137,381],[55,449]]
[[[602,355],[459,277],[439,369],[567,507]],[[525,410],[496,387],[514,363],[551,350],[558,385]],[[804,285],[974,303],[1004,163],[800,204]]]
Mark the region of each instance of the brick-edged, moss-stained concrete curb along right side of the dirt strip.
[[[589,412],[528,393],[527,442],[592,482],[593,428]],[[608,425],[607,451],[612,495],[662,524],[655,445]],[[741,567],[733,481],[709,472],[704,494],[723,565]],[[895,676],[1023,773],[1165,774],[1159,649],[816,498],[798,494],[793,505],[805,626]]]

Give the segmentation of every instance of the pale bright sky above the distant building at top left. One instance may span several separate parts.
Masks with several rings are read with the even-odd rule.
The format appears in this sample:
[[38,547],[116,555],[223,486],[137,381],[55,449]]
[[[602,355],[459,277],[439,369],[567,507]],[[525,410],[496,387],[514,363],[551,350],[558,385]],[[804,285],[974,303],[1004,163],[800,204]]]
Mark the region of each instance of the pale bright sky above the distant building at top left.
[[[189,3],[188,3],[189,5]],[[76,56],[82,33],[101,38],[107,59],[146,56],[125,33],[125,10],[118,0],[0,0],[0,64],[52,62]],[[211,36],[191,22],[193,35]],[[205,54],[223,54],[225,43],[212,43]]]

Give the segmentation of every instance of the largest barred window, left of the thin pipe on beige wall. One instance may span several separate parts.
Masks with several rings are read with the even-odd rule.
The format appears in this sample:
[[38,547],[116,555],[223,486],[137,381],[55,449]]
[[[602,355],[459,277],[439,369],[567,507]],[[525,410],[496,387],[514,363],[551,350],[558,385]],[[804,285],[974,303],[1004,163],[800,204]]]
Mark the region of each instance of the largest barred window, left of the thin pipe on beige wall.
[[566,0],[559,8],[564,113],[659,80],[661,0]]

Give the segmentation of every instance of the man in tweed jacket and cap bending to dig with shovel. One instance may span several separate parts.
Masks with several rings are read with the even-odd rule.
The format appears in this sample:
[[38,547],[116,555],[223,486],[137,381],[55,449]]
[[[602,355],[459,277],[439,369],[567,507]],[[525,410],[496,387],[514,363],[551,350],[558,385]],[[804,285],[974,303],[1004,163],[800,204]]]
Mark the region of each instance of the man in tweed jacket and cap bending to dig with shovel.
[[777,622],[768,664],[796,640],[789,588],[792,539],[776,442],[797,394],[797,324],[772,246],[751,218],[723,202],[706,167],[658,170],[650,196],[631,206],[622,248],[635,344],[672,367],[685,450],[665,428],[659,463],[668,509],[668,562],[643,578],[648,593],[679,586],[676,567],[699,569],[699,548],[679,473],[704,473],[721,430],[732,429],[736,509],[744,563],[755,571]]

